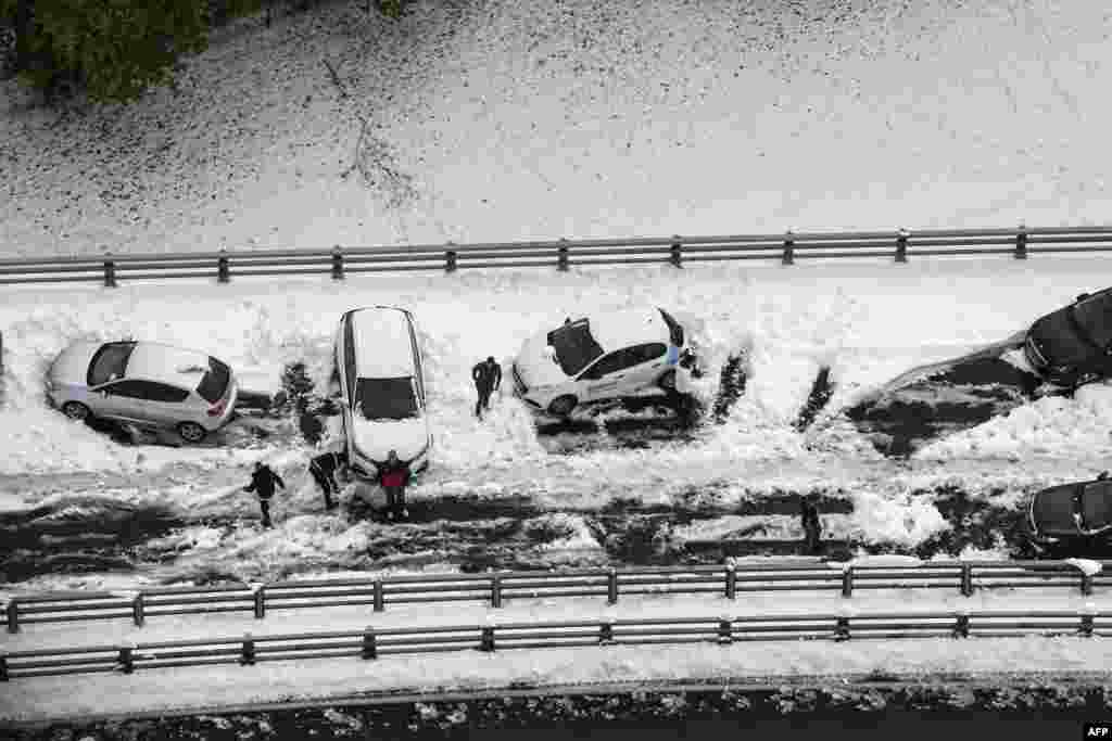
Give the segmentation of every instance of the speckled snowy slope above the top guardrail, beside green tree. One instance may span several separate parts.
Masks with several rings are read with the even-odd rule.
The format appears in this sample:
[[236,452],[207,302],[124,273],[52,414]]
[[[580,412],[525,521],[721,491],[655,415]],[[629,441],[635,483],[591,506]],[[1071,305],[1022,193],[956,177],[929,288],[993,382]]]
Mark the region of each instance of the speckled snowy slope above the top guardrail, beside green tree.
[[[131,108],[59,117],[3,83],[0,243],[1102,222],[1110,29],[1056,0],[320,3],[221,31]],[[369,190],[344,177],[358,117]]]

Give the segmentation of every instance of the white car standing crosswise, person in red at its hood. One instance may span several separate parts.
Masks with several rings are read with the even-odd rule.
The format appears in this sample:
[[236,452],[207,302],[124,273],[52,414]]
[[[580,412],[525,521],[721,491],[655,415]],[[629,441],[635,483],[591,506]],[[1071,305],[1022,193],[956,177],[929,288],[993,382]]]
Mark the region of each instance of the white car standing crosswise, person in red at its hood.
[[394,307],[346,312],[336,333],[336,368],[351,470],[374,478],[391,450],[414,473],[428,468],[433,433],[410,313]]

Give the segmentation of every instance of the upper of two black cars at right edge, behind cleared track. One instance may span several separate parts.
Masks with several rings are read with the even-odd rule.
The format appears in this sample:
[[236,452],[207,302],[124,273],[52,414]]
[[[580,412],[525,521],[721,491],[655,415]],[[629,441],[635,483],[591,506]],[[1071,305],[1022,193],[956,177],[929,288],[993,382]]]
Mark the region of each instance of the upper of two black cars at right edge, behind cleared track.
[[1082,293],[1040,318],[1023,346],[1027,362],[1054,385],[1075,388],[1112,377],[1112,288]]

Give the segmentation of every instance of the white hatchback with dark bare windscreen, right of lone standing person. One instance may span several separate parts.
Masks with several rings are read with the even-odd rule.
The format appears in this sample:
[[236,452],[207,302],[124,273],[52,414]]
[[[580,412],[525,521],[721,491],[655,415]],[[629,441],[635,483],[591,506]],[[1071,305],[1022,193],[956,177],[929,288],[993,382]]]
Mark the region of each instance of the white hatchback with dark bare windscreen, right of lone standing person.
[[584,403],[684,393],[695,368],[685,339],[657,308],[566,320],[526,340],[510,369],[514,389],[554,417]]

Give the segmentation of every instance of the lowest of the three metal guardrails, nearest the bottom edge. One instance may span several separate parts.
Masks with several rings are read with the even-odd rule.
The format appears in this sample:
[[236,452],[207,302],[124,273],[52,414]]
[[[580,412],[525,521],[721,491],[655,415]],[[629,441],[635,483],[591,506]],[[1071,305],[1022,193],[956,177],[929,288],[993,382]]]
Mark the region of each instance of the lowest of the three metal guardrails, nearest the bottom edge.
[[205,664],[513,649],[925,637],[1112,635],[1112,612],[888,612],[487,623],[286,633],[0,653],[0,681]]

